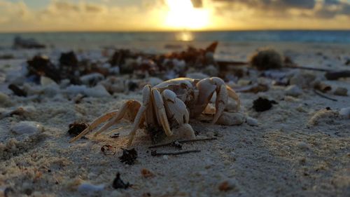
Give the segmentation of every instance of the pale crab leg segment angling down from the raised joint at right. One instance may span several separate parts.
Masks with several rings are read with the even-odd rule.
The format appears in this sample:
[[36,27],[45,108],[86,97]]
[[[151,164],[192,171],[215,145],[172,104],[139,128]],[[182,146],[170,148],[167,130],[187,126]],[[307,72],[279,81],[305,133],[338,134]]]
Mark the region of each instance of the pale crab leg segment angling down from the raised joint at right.
[[228,90],[226,89],[226,86],[223,84],[216,90],[216,102],[215,102],[215,108],[216,112],[213,118],[213,124],[218,121],[218,118],[220,118],[221,114],[223,114],[223,110],[226,107],[226,104],[228,103]]

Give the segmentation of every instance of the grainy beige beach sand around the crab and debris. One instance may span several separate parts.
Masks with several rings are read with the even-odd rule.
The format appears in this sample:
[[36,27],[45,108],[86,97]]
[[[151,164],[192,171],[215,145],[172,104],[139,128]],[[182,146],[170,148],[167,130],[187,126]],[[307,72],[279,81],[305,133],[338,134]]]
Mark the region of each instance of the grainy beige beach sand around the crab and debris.
[[[246,60],[256,48],[267,45],[271,46],[268,43],[221,46],[218,56]],[[350,69],[344,65],[344,58],[350,57],[347,46],[296,43],[273,46],[303,66]],[[36,51],[10,52],[15,53],[15,60],[0,60],[2,75],[18,69]],[[323,79],[323,82],[350,91],[349,80]],[[138,152],[137,161],[125,165],[118,157],[121,148],[126,147],[130,123],[115,127],[120,133],[118,138],[87,135],[89,139],[72,144],[67,135],[68,125],[74,121],[89,123],[106,111],[118,109],[128,99],[141,100],[141,90],[85,97],[76,104],[61,92],[53,97],[17,97],[6,88],[4,80],[0,84],[1,93],[8,95],[1,102],[1,112],[17,107],[27,111],[23,116],[0,120],[0,196],[6,188],[13,189],[8,196],[350,196],[350,121],[338,113],[350,107],[349,96],[326,94],[337,100],[332,101],[315,95],[311,88],[303,88],[302,95],[292,97],[281,86],[272,86],[265,93],[239,93],[241,111],[257,119],[258,126],[211,125],[191,120],[197,137],[216,136],[217,140],[186,143],[183,150],[200,152],[180,156],[151,156],[148,149],[151,140],[139,132],[133,144]],[[256,112],[252,106],[258,97],[278,104],[268,111]],[[11,128],[20,121],[34,121],[44,130],[15,134]],[[105,156],[101,151],[105,144],[115,147],[116,154]],[[174,147],[157,150],[178,151]],[[154,176],[143,177],[144,168]],[[113,189],[117,172],[133,186]],[[103,186],[89,192],[89,186],[78,189],[81,183]]]

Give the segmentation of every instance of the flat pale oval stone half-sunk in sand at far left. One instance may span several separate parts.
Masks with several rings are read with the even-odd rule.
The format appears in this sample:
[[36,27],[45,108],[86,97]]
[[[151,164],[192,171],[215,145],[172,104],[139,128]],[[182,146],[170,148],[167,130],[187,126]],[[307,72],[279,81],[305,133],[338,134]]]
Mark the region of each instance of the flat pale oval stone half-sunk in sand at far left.
[[10,131],[17,135],[34,135],[44,131],[43,125],[34,121],[21,121],[10,127]]

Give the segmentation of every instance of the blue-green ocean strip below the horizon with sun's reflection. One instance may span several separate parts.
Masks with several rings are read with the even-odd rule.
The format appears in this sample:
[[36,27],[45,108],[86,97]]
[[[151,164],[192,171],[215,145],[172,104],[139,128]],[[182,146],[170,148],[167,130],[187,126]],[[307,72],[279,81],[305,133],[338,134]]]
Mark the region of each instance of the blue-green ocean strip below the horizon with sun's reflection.
[[0,48],[9,48],[15,36],[33,38],[47,46],[100,48],[104,46],[144,45],[165,43],[230,42],[293,42],[342,43],[350,45],[350,31],[235,31],[235,32],[45,32],[1,33]]

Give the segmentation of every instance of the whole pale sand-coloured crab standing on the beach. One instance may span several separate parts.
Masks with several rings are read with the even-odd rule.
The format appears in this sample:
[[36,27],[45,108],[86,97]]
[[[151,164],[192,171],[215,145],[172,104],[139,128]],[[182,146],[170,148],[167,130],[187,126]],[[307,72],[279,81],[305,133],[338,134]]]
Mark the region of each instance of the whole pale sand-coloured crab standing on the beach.
[[[218,77],[206,79],[177,78],[163,81],[156,86],[144,86],[142,104],[137,100],[127,100],[120,109],[109,111],[99,116],[81,132],[71,139],[74,142],[83,137],[98,125],[107,121],[94,136],[104,132],[112,125],[119,123],[122,119],[132,122],[132,130],[127,146],[132,145],[134,136],[139,128],[146,130],[164,131],[166,137],[172,137],[174,130],[181,133],[181,137],[193,139],[195,132],[188,124],[190,118],[197,118],[204,115],[211,97],[216,93],[214,116],[211,123],[216,123],[226,113],[225,107],[228,98],[237,102],[239,109],[239,96],[225,82]],[[236,110],[237,110],[236,109]],[[152,129],[149,129],[152,128]]]

